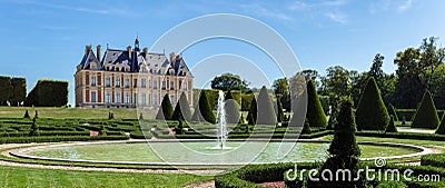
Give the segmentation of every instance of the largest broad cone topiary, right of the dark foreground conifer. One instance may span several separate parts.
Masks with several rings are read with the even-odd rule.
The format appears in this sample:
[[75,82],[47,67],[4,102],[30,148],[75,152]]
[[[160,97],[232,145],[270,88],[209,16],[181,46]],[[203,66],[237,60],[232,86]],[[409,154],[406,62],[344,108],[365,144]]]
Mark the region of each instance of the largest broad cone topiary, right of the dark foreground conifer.
[[356,119],[358,130],[385,130],[388,125],[389,115],[374,77],[369,78],[358,102]]

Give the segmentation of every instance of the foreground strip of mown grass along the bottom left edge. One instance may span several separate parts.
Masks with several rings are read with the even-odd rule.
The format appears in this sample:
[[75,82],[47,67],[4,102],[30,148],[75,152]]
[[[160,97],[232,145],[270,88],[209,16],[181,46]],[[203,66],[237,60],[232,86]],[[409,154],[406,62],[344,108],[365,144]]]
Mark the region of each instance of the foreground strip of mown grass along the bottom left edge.
[[184,187],[211,178],[189,174],[125,174],[0,166],[0,187]]

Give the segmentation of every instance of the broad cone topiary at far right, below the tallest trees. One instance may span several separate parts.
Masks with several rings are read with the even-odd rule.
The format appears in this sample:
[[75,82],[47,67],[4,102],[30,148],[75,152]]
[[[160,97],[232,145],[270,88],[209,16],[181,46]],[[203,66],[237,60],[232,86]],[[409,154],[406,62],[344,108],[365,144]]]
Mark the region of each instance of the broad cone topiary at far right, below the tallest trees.
[[436,129],[438,125],[436,107],[429,91],[426,90],[414,116],[412,128]]

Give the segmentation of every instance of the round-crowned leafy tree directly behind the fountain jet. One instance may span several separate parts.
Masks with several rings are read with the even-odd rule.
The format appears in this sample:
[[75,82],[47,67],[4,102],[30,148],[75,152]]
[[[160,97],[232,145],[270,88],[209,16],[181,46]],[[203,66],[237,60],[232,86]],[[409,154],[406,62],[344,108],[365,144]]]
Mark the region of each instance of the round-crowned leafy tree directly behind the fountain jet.
[[247,92],[249,90],[248,82],[233,73],[222,73],[219,77],[215,77],[214,80],[211,80],[211,89],[222,91],[240,90],[241,92]]

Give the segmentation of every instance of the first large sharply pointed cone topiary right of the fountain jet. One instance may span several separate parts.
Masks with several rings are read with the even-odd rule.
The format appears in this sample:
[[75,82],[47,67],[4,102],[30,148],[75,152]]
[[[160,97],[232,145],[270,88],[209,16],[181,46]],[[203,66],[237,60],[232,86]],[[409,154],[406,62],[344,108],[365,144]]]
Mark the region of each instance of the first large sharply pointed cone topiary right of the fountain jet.
[[257,108],[257,125],[276,125],[277,117],[275,115],[274,105],[265,86],[263,86],[259,91]]

